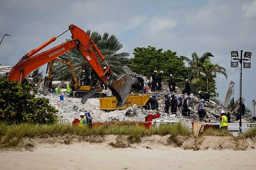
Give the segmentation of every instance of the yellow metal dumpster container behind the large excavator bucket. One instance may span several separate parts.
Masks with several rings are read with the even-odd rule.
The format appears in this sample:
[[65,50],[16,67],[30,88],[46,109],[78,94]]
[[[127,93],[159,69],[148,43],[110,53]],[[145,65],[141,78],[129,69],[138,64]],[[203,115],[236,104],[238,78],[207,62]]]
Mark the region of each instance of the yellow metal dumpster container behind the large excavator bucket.
[[150,96],[151,94],[128,95],[126,98],[125,104],[119,108],[116,108],[116,104],[117,104],[116,97],[99,98],[99,108],[103,110],[115,110],[115,109],[125,109],[127,107],[131,107],[134,104],[137,104],[137,106],[145,106]]

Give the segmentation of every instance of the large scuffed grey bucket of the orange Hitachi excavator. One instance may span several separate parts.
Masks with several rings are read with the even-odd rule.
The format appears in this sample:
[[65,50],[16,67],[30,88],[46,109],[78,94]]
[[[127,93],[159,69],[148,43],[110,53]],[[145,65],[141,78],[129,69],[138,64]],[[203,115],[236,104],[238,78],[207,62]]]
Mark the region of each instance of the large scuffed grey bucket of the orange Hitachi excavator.
[[131,76],[129,75],[114,75],[108,81],[108,88],[113,96],[116,97],[116,107],[122,107],[131,90]]

